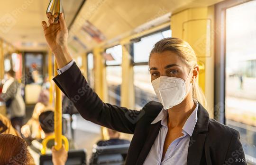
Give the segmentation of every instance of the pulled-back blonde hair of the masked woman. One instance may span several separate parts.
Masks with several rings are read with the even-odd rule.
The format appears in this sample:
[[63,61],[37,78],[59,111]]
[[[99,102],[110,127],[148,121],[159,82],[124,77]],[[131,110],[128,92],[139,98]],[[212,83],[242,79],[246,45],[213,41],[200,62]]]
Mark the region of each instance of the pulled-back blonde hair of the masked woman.
[[[166,50],[175,52],[189,68],[197,66],[197,57],[194,50],[188,42],[179,38],[165,38],[156,42],[154,48],[151,50],[149,61],[153,53],[161,53]],[[199,87],[198,83],[194,82],[192,84],[193,99],[198,100],[204,107],[206,107],[206,99],[203,91]]]

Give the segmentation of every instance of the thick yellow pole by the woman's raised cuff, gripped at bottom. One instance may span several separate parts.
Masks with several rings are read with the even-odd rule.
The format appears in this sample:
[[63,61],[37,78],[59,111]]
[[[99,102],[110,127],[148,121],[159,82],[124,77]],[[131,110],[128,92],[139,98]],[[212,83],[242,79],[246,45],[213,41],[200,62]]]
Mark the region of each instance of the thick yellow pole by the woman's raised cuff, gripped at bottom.
[[[55,62],[55,75],[57,75],[57,63]],[[55,149],[62,147],[62,95],[61,90],[55,85],[55,112],[54,112]]]

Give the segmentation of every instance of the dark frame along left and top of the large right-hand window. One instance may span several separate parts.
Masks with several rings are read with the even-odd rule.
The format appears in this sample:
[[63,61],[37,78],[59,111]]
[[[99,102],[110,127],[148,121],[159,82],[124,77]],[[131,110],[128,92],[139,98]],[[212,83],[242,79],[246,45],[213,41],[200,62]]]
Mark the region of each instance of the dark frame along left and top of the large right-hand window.
[[225,0],[215,7],[214,119],[226,124],[226,10],[251,0]]

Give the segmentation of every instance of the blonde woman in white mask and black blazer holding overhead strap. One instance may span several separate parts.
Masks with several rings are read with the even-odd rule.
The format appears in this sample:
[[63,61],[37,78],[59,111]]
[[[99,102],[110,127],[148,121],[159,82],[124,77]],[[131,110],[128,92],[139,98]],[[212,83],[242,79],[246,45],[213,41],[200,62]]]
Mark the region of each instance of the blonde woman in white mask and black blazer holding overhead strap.
[[68,52],[63,13],[56,24],[57,14],[47,16],[49,26],[42,22],[46,41],[61,68],[55,83],[86,120],[134,134],[126,165],[244,164],[235,163],[245,158],[239,132],[210,119],[201,105],[199,67],[187,42],[166,38],[155,44],[149,68],[161,103],[149,102],[138,112],[101,101]]

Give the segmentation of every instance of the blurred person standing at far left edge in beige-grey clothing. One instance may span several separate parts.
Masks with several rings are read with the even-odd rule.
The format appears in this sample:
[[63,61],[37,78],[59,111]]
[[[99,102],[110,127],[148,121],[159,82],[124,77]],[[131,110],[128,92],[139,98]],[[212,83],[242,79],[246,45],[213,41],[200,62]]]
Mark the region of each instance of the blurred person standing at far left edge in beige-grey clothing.
[[25,116],[25,102],[21,96],[19,82],[15,79],[13,70],[7,72],[7,81],[3,85],[0,98],[5,101],[12,126],[20,133]]

